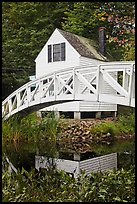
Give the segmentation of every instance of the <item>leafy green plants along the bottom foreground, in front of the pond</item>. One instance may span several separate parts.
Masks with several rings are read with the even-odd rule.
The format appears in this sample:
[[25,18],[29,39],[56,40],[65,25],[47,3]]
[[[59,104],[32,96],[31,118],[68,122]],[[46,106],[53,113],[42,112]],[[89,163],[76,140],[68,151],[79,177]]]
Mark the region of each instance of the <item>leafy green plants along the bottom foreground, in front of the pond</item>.
[[3,202],[132,202],[135,168],[70,177],[56,168],[2,175]]

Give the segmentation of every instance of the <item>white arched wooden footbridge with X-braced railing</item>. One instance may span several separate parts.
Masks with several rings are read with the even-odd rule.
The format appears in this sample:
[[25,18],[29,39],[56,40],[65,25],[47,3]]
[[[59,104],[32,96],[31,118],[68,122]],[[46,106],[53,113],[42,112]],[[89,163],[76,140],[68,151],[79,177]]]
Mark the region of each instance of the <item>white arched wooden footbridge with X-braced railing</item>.
[[[105,83],[111,87],[111,93],[102,91]],[[3,101],[2,117],[81,100],[135,107],[135,63],[107,62],[68,68],[30,81]]]

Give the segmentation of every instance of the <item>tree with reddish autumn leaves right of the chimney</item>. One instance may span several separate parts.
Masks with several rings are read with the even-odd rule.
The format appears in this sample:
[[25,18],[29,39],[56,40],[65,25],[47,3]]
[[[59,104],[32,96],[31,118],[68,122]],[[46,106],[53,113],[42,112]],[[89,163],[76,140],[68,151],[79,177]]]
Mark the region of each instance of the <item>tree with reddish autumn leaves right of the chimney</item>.
[[118,60],[135,60],[135,2],[110,2],[102,4],[108,22],[108,42],[118,53]]

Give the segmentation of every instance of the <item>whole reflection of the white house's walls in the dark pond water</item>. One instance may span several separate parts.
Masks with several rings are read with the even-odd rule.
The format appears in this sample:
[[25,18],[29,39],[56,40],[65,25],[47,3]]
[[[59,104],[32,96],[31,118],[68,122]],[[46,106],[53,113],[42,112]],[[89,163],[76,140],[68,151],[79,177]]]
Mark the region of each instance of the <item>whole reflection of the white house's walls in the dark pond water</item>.
[[43,156],[35,156],[35,168],[47,168],[50,165],[56,165],[58,170],[74,174],[77,177],[83,170],[87,175],[91,172],[106,171],[109,169],[117,169],[117,153],[107,154],[104,156],[87,159],[84,161],[71,161],[66,159],[52,159],[47,160]]

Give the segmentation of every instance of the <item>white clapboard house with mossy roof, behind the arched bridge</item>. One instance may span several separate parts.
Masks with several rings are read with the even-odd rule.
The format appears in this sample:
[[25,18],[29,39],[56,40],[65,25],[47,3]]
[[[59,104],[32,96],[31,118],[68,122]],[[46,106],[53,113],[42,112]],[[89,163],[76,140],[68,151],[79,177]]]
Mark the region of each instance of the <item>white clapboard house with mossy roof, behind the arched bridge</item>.
[[[102,41],[101,41],[102,42]],[[57,70],[74,66],[89,66],[104,63],[107,60],[90,39],[55,29],[41,52],[35,59],[36,78]],[[111,91],[106,84],[105,93]],[[48,107],[46,110],[74,112],[74,118],[80,118],[84,112],[96,113],[103,111],[117,111],[117,105],[102,102],[69,102]]]

